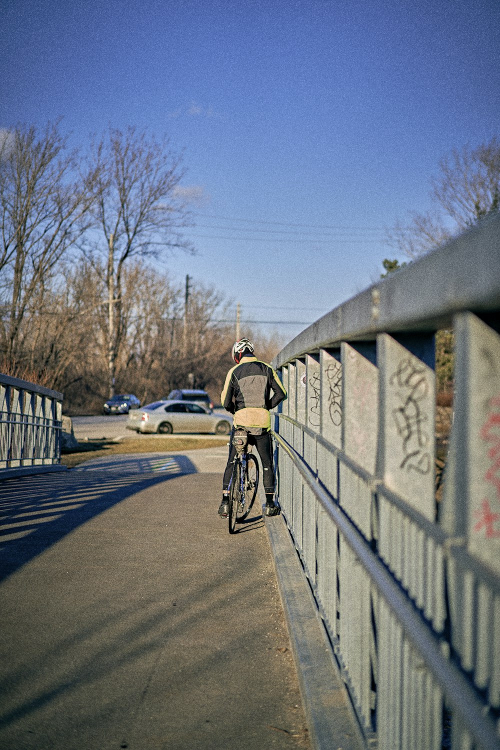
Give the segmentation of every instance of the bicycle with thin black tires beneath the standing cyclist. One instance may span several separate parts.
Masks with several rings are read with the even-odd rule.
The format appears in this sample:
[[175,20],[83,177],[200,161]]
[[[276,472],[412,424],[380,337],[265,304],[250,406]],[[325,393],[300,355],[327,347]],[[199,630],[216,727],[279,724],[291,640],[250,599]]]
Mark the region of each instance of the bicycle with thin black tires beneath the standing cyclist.
[[252,509],[259,486],[259,463],[248,450],[248,433],[246,430],[235,430],[232,434],[232,445],[236,455],[229,483],[229,533],[235,534],[236,523],[245,520]]

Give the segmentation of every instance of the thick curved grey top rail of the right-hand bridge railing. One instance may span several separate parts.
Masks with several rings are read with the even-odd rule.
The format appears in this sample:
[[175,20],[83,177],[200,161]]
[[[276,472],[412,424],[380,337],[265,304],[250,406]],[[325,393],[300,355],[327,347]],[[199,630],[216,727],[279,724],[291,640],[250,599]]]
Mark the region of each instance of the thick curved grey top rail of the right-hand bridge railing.
[[404,269],[316,320],[283,348],[274,368],[334,347],[340,341],[374,341],[378,333],[451,327],[461,311],[498,311],[500,213],[485,218]]

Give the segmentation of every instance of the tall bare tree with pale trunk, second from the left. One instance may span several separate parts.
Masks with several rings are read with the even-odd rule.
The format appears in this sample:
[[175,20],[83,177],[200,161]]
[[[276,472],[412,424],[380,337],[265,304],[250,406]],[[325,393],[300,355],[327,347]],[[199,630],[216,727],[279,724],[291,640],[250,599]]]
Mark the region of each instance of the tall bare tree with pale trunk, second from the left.
[[[110,129],[92,148],[98,169],[100,199],[95,209],[104,245],[89,246],[107,292],[107,367],[109,395],[115,392],[116,358],[124,335],[122,286],[124,268],[134,257],[157,257],[173,248],[192,251],[181,229],[189,214],[178,185],[184,176],[181,155],[169,142],[138,133]],[[91,240],[88,237],[88,241]],[[147,286],[138,293],[148,293]]]

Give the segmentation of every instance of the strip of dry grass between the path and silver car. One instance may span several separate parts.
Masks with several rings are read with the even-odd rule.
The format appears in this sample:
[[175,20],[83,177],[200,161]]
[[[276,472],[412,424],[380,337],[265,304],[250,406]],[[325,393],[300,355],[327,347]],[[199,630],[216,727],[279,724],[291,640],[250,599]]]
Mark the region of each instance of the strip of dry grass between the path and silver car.
[[114,456],[124,453],[163,453],[167,451],[193,451],[200,448],[214,448],[223,446],[220,439],[210,437],[190,438],[156,438],[155,440],[121,440],[115,443],[112,440],[89,440],[88,443],[79,443],[78,448],[69,453],[61,455],[61,463],[72,469],[79,463],[91,458],[101,456]]

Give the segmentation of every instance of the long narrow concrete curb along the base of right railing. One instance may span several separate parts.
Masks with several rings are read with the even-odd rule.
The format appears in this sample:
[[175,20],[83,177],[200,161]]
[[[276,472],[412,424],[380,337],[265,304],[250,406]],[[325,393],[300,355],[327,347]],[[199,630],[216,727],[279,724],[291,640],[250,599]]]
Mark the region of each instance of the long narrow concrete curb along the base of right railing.
[[362,750],[367,747],[364,736],[283,516],[266,518],[265,530],[311,746],[314,750]]

